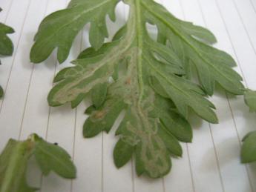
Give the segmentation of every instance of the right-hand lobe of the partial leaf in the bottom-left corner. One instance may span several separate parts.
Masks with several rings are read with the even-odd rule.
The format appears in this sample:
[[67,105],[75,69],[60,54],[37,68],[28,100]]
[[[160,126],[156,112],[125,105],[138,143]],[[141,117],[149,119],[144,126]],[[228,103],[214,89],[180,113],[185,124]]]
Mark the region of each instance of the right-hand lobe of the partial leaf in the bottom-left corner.
[[54,171],[64,178],[76,178],[76,168],[69,154],[58,145],[45,142],[39,138],[36,141],[33,153],[44,175]]

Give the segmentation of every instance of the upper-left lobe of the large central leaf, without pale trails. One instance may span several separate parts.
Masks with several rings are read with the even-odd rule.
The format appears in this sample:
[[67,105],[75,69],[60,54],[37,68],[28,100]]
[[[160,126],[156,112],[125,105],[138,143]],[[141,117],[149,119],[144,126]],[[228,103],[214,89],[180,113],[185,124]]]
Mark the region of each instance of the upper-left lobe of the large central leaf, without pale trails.
[[96,50],[108,37],[105,17],[115,21],[115,7],[119,0],[72,0],[68,8],[47,16],[39,26],[30,60],[39,63],[58,48],[58,60],[65,62],[72,42],[85,24],[90,23],[90,43]]

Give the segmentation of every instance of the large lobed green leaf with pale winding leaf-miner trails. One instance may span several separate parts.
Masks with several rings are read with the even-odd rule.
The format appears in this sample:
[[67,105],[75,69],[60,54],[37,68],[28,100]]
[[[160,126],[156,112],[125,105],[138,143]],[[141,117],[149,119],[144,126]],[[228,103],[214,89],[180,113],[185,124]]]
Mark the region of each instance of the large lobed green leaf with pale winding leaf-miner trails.
[[[234,59],[210,46],[216,39],[209,30],[175,18],[152,0],[125,0],[130,7],[128,21],[111,42],[103,43],[108,34],[105,16],[114,21],[117,2],[73,0],[67,9],[47,16],[30,59],[42,62],[57,47],[63,62],[74,37],[90,22],[92,47],[73,61],[73,67],[57,74],[49,105],[71,102],[76,107],[91,96],[92,105],[85,111],[89,114],[85,137],[111,130],[125,110],[116,130],[116,167],[134,155],[137,174],[157,178],[170,171],[170,155],[182,156],[179,141],[191,142],[188,111],[217,123],[207,96],[214,93],[216,83],[229,93],[243,94],[242,78],[232,70]],[[147,23],[157,26],[157,40],[148,34]]]

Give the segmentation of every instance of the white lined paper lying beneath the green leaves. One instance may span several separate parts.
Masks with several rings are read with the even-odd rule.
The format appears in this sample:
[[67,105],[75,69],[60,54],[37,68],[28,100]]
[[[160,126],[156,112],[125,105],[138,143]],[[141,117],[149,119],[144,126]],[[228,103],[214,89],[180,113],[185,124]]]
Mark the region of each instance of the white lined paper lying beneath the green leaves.
[[[214,44],[230,53],[246,87],[256,89],[256,1],[255,0],[158,0],[175,16],[209,28],[217,37]],[[191,116],[194,127],[192,144],[182,144],[183,158],[173,159],[171,173],[162,179],[138,177],[134,159],[119,170],[112,152],[117,138],[114,130],[92,139],[82,137],[86,102],[75,110],[70,105],[48,107],[47,93],[53,77],[79,52],[89,46],[88,28],[76,37],[67,61],[59,65],[56,54],[43,64],[29,59],[33,36],[40,21],[55,10],[66,7],[68,0],[0,0],[0,21],[16,30],[10,38],[15,47],[13,57],[1,59],[0,84],[5,96],[0,100],[0,150],[7,140],[25,139],[38,133],[49,142],[58,142],[68,150],[78,168],[77,179],[61,179],[54,173],[42,176],[31,159],[30,185],[42,192],[254,192],[256,164],[240,164],[241,139],[256,130],[255,114],[249,113],[243,97],[229,95],[217,87],[211,102],[217,107],[220,124],[200,122]],[[115,24],[108,20],[111,36],[128,16],[128,7],[116,8]],[[116,125],[118,121],[116,122]]]

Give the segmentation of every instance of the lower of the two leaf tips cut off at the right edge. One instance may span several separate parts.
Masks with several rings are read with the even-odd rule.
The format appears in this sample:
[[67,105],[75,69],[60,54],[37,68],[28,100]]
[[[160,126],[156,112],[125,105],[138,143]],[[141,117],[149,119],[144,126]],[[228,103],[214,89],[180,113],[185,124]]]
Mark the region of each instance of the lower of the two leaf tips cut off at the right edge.
[[256,161],[256,131],[248,133],[243,139],[241,160],[243,163]]

